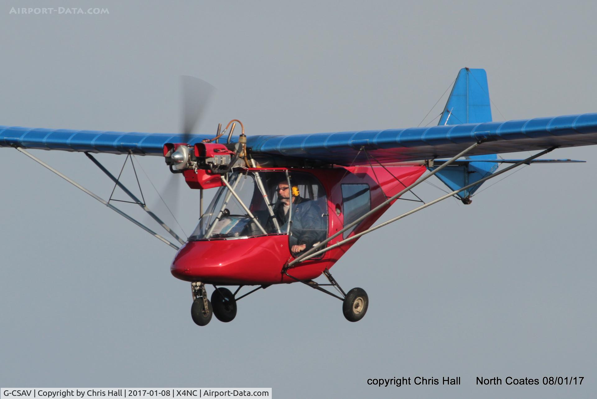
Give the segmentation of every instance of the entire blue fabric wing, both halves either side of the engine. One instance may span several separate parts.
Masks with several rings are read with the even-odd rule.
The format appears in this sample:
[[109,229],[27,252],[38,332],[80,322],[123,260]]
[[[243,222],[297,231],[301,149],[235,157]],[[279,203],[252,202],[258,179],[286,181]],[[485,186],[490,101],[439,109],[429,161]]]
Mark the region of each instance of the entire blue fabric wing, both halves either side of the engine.
[[[89,151],[162,156],[165,143],[179,143],[182,134],[76,131],[0,126],[0,147]],[[212,135],[192,135],[194,144]],[[233,138],[236,140],[236,138]],[[297,135],[248,135],[254,154],[318,160],[338,165],[367,165],[373,155],[381,163],[451,157],[479,140],[470,155],[542,150],[597,144],[597,113],[466,123],[428,128],[370,130]]]

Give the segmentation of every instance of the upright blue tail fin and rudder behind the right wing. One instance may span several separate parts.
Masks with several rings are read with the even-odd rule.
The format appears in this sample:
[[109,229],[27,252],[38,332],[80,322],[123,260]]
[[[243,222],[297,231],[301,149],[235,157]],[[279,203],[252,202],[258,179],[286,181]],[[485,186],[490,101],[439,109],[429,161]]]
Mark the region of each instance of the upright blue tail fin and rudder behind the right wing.
[[[438,125],[482,122],[491,122],[487,74],[484,69],[463,68],[458,72]],[[497,154],[477,155],[467,158],[497,159]],[[436,177],[452,190],[458,190],[458,188],[475,183],[475,181],[493,174],[497,168],[498,163],[495,162],[470,162],[467,165],[447,166],[439,171]],[[462,202],[465,204],[470,203],[470,196],[475,193],[481,184],[458,193]]]

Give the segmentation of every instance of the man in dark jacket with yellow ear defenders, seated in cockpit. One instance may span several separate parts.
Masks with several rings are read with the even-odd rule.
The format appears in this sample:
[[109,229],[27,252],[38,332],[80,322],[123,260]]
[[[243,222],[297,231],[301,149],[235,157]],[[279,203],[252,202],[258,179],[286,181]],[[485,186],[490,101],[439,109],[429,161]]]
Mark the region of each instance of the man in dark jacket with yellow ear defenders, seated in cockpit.
[[290,227],[290,252],[298,255],[325,239],[325,221],[315,201],[300,196],[298,187],[290,187],[287,180],[280,181],[276,188],[278,202],[273,208],[282,231],[288,227],[288,211],[293,204]]

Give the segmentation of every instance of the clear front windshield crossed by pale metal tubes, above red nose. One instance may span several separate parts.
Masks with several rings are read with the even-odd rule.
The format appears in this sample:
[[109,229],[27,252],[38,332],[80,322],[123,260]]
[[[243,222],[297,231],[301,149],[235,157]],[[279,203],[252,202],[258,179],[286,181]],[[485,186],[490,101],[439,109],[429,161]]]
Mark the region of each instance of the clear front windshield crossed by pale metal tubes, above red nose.
[[273,214],[276,198],[271,188],[287,180],[284,173],[235,172],[227,176],[227,185],[219,188],[189,240],[287,233]]

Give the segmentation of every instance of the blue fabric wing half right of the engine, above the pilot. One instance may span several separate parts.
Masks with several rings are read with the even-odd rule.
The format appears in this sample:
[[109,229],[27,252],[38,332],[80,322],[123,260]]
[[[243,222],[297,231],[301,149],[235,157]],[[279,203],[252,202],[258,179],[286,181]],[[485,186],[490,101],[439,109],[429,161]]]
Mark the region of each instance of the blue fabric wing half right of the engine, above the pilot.
[[597,144],[597,113],[467,123],[428,128],[262,136],[250,138],[253,151],[337,163],[367,165],[366,149],[382,163],[453,157],[479,140],[469,155],[544,150]]

